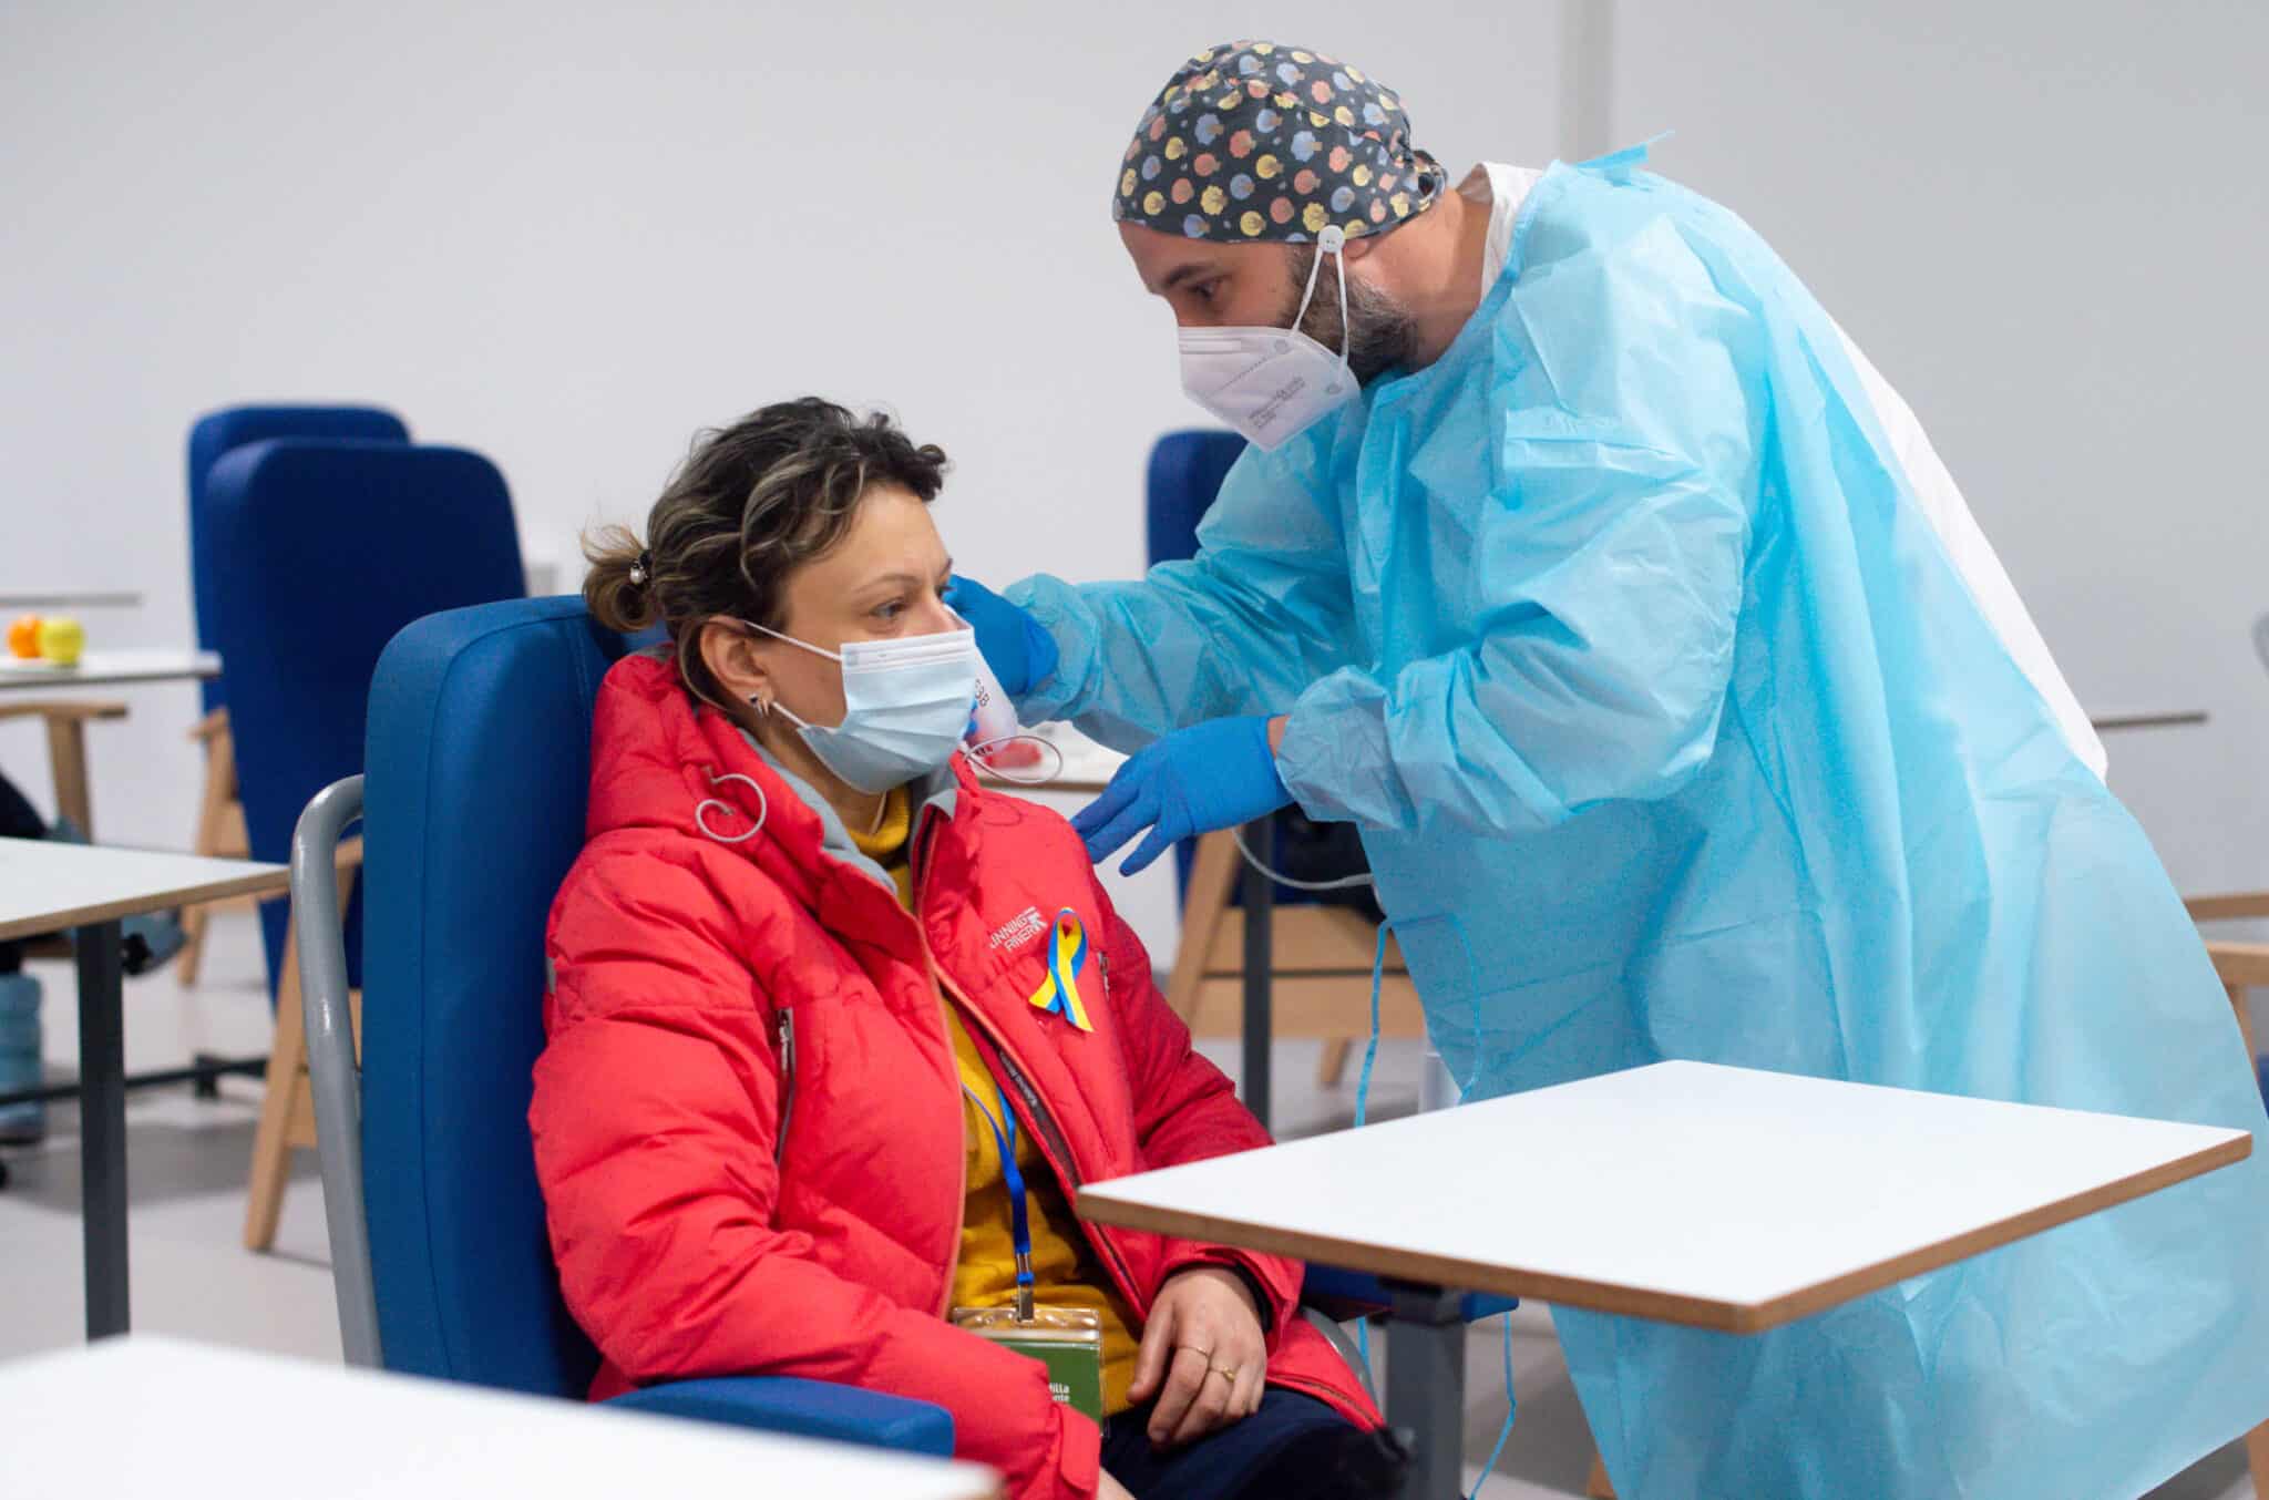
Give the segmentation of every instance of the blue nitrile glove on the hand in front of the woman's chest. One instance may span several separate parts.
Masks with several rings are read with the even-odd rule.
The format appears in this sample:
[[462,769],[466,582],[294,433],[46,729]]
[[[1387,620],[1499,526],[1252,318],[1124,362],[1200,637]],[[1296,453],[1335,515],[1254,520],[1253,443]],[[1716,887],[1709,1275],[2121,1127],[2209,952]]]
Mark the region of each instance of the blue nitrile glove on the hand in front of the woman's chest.
[[1234,828],[1291,801],[1268,751],[1268,719],[1207,719],[1150,744],[1071,819],[1087,858],[1103,862],[1150,828],[1119,874],[1132,876],[1180,840]]

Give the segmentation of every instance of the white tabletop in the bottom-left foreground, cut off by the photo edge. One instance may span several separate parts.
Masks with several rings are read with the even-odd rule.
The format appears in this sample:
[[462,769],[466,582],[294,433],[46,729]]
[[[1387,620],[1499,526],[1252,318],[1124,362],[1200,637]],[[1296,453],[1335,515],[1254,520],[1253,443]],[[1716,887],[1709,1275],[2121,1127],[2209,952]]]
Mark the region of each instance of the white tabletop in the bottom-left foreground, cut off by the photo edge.
[[[971,1464],[134,1334],[0,1364],[9,1495],[980,1500]],[[202,1475],[202,1480],[200,1480]]]

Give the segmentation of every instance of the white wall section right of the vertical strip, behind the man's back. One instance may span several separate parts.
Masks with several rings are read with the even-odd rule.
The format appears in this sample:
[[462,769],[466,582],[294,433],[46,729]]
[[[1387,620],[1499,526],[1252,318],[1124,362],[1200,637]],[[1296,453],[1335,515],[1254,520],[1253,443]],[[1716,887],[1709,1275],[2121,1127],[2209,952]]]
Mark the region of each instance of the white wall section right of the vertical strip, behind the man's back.
[[1731,204],[1929,427],[2190,892],[2269,887],[2258,0],[1620,0],[1611,129]]

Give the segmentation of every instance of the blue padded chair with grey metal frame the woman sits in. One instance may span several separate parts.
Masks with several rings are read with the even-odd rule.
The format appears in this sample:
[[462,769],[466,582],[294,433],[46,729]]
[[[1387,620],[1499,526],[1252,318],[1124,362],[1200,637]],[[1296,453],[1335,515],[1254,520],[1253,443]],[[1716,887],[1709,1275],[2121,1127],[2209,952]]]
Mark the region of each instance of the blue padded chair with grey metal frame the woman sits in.
[[[545,919],[583,846],[592,701],[624,644],[581,599],[420,620],[370,683],[368,774],[306,812],[293,892],[352,1364],[563,1398],[597,1371],[560,1303],[529,1098]],[[356,1076],[331,849],[365,794],[365,921],[383,939]],[[953,1450],[944,1409],[812,1380],[690,1380],[608,1405]]]

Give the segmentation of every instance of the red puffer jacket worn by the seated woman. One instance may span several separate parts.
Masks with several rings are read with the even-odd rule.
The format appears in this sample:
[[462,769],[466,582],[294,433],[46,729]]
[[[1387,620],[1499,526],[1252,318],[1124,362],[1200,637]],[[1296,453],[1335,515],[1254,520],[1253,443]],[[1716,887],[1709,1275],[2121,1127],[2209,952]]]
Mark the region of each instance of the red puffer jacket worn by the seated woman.
[[[939,790],[914,821],[917,921],[871,865],[824,849],[821,812],[694,713],[674,667],[608,674],[529,1110],[551,1250],[606,1357],[594,1398],[694,1375],[849,1382],[951,1409],[955,1450],[1019,1500],[1089,1495],[1096,1425],[1051,1400],[1037,1362],[944,1321],[962,1092],[942,1008],[1066,1189],[1268,1137],[1189,1048],[1071,826],[982,792],[960,758]],[[1091,944],[1091,1033],[1028,1001],[1064,908]],[[1087,1237],[1144,1314],[1173,1271],[1243,1266],[1271,1300],[1268,1380],[1377,1425],[1293,1312],[1298,1262]]]

